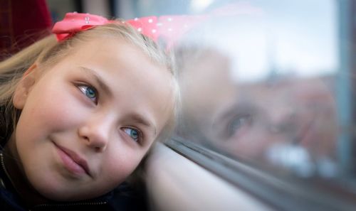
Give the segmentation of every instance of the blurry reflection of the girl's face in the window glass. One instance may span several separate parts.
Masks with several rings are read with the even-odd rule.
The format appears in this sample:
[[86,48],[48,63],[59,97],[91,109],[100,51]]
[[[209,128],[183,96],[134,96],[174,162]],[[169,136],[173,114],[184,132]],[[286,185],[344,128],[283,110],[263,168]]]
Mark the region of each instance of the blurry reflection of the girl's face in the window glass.
[[[199,141],[246,158],[263,159],[281,144],[302,146],[315,156],[334,156],[335,100],[321,79],[243,85],[231,81],[229,59],[223,55],[208,53],[195,62],[184,69],[182,97],[185,121],[194,124],[190,134],[199,131],[197,136],[204,136]],[[189,78],[199,80],[184,81]]]

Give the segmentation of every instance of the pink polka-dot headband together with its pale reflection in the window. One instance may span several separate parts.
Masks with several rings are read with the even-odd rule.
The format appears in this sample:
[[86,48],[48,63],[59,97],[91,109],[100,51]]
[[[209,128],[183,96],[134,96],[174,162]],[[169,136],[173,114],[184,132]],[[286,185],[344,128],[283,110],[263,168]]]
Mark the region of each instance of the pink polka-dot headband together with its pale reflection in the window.
[[[184,35],[184,33],[187,33],[187,31],[201,21],[205,21],[207,18],[218,16],[228,16],[231,18],[241,14],[261,13],[263,13],[263,11],[259,8],[251,6],[246,2],[238,2],[215,9],[206,15],[148,16],[122,22],[130,24],[140,33],[152,38],[152,40],[157,41],[158,38],[162,38],[167,43],[167,48],[170,48]],[[59,21],[53,26],[52,32],[55,33],[57,39],[61,41],[70,38],[79,31],[85,31],[89,28],[112,22],[116,21],[110,21],[102,16],[96,16],[89,13],[66,13],[63,21]]]

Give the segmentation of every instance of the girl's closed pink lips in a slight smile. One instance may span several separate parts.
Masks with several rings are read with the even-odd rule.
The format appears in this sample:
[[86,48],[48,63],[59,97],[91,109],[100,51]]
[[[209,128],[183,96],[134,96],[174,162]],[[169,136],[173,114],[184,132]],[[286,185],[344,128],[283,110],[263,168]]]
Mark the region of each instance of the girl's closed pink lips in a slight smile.
[[68,148],[59,146],[57,144],[54,145],[56,146],[58,154],[61,157],[63,164],[68,169],[68,171],[79,175],[86,173],[91,176],[88,163],[87,161],[85,161],[85,159],[81,158],[77,153],[71,151]]

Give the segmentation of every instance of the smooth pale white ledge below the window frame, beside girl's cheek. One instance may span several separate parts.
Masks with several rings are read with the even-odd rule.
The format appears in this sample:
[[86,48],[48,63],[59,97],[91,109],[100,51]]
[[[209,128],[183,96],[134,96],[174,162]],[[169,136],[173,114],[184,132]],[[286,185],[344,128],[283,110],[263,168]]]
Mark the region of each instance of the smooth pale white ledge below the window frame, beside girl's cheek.
[[163,144],[147,161],[146,182],[152,210],[271,210]]

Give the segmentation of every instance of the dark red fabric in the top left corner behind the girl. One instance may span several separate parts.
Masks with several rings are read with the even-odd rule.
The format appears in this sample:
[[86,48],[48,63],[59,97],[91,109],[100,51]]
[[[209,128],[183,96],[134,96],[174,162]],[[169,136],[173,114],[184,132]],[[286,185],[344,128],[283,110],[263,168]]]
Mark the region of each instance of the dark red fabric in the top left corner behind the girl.
[[46,0],[0,1],[0,51],[16,53],[34,43],[39,32],[50,29]]

